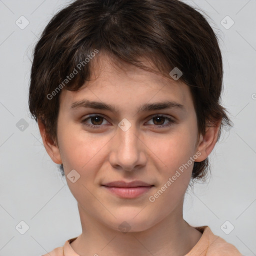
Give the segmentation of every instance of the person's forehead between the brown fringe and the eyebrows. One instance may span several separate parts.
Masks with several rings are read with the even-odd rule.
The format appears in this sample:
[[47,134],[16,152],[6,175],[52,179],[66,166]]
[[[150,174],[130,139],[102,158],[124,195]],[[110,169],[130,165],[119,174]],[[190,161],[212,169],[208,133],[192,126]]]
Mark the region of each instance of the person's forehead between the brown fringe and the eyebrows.
[[[149,60],[140,61],[157,71]],[[84,99],[102,101],[117,108],[127,105],[137,108],[141,103],[166,100],[187,109],[193,107],[190,89],[181,80],[174,81],[126,62],[112,61],[105,54],[98,54],[92,63],[90,78],[78,91],[61,91],[60,108],[70,109],[74,102]]]

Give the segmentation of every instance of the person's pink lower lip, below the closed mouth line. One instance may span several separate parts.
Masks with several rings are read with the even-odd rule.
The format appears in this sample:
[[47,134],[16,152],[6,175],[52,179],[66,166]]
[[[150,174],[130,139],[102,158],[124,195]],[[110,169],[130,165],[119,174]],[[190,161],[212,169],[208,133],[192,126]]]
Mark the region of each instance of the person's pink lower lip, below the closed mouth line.
[[[153,185],[152,185],[153,186]],[[108,191],[123,197],[123,198],[135,198],[150,190],[152,186],[137,186],[137,187],[115,187],[104,186]]]

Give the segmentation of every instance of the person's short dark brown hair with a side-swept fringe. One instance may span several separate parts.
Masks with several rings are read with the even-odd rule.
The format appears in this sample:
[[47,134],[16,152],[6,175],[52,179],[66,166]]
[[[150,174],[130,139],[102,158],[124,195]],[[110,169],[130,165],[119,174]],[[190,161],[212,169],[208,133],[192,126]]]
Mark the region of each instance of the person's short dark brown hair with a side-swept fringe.
[[[47,95],[95,49],[151,70],[138,60],[146,57],[169,78],[170,70],[178,67],[179,79],[192,92],[198,132],[204,135],[207,123],[221,120],[218,140],[222,125],[230,125],[220,105],[223,70],[218,38],[199,11],[179,0],[76,0],[52,17],[33,52],[29,110],[32,118],[43,121],[53,141],[60,93],[51,99]],[[64,89],[79,89],[90,76],[90,66],[84,64]],[[59,167],[64,175],[63,165]],[[208,157],[194,162],[192,178],[203,178],[207,169]]]

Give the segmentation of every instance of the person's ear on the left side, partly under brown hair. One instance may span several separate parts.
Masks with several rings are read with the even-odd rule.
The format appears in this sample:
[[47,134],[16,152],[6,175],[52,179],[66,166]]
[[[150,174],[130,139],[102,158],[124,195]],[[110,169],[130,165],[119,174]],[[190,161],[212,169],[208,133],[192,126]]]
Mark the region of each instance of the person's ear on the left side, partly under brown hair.
[[44,123],[38,118],[37,120],[38,127],[40,130],[40,134],[42,137],[43,145],[50,156],[51,160],[57,164],[61,164],[61,157],[60,152],[57,146],[57,143],[55,143],[51,138],[49,138],[48,134],[46,134],[46,129]]

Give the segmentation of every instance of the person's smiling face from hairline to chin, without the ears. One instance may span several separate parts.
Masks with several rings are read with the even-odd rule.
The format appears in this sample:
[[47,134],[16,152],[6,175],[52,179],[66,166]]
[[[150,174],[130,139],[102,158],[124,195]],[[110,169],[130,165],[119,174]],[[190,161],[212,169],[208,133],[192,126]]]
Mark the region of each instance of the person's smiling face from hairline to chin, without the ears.
[[[57,150],[80,214],[115,230],[121,224],[143,231],[181,217],[199,159],[197,120],[186,84],[123,67],[100,55],[86,86],[61,91]],[[106,186],[114,181],[146,184]]]

